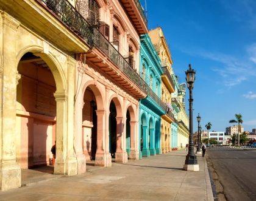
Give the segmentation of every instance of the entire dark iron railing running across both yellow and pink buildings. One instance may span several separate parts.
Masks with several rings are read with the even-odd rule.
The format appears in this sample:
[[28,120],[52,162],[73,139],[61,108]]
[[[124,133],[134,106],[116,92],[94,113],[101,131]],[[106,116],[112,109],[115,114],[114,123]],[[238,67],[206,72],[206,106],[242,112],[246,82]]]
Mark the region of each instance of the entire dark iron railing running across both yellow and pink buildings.
[[112,60],[126,75],[140,87],[148,92],[148,84],[129,66],[129,63],[112,46],[112,44],[99,32],[94,25],[91,26],[87,20],[66,0],[41,0],[55,15],[68,26],[74,33],[83,38],[91,47],[100,49]]

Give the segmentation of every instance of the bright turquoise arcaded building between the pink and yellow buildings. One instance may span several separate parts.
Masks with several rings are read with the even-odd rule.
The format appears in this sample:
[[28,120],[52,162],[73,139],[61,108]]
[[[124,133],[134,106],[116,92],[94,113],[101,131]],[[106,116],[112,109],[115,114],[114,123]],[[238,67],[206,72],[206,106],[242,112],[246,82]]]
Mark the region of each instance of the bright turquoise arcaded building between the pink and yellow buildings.
[[140,100],[140,158],[160,154],[161,115],[166,104],[161,97],[161,61],[148,35],[140,37],[140,76],[148,84],[148,96]]

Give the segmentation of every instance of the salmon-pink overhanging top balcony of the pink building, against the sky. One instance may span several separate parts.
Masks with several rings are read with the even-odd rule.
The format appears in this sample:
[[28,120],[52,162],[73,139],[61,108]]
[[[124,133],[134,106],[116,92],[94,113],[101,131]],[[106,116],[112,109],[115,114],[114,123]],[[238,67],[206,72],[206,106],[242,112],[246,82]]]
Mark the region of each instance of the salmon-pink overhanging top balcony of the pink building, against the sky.
[[148,33],[148,20],[143,12],[139,0],[119,0],[124,9],[127,12],[127,15],[131,19],[137,32],[142,35]]

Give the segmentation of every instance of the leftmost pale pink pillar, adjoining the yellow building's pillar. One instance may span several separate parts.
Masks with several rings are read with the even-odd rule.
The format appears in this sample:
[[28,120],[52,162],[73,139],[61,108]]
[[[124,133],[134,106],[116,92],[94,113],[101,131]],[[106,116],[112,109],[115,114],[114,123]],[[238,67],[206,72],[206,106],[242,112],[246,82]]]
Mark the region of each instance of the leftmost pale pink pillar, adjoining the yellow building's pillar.
[[[83,64],[80,64],[83,65]],[[80,70],[77,71],[77,79],[82,80],[82,73]],[[79,86],[76,86],[79,87]],[[75,102],[75,112],[74,112],[74,150],[77,157],[77,173],[81,174],[86,172],[86,157],[83,151],[83,128],[82,128],[82,112],[84,107],[84,96],[82,90],[78,91],[76,95]],[[86,146],[85,146],[86,148]],[[88,151],[87,151],[88,153]]]

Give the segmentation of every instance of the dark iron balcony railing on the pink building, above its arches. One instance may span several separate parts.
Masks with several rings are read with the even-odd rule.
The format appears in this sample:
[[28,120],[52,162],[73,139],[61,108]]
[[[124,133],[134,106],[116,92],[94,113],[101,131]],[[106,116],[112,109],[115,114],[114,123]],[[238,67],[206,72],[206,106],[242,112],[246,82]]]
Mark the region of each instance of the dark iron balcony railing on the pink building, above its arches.
[[115,47],[99,32],[98,29],[93,29],[93,46],[100,49],[110,60],[116,64],[126,75],[137,84],[144,92],[147,92],[148,84],[132,69],[129,63],[115,49]]

